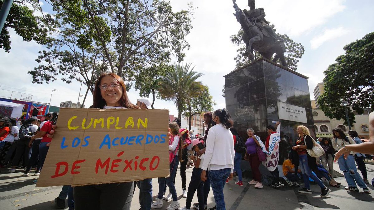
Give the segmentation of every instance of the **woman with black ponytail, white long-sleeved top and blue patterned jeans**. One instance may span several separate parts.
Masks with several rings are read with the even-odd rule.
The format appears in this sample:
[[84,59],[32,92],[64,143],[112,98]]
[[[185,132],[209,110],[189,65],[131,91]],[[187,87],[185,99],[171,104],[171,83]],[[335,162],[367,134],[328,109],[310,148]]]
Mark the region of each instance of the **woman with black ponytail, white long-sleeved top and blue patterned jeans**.
[[226,109],[213,112],[212,121],[215,126],[209,129],[206,138],[201,180],[206,181],[206,170],[209,170],[217,210],[225,210],[223,187],[227,177],[232,179],[234,170],[234,138],[230,132],[233,121]]

